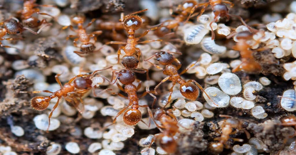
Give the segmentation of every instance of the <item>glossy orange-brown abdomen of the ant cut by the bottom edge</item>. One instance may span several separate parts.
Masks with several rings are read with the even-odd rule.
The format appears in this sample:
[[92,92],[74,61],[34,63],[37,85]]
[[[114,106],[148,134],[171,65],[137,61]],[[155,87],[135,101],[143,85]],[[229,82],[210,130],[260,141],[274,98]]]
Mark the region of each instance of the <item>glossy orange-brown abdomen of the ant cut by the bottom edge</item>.
[[160,146],[168,154],[175,153],[177,148],[177,143],[173,136],[164,135],[156,141],[157,145]]

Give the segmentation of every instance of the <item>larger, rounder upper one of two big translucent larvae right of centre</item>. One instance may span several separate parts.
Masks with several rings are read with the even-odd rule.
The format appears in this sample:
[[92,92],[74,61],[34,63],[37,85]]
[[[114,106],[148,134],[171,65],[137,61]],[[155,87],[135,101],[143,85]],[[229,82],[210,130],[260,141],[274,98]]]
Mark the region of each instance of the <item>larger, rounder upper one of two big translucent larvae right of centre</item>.
[[221,90],[228,95],[237,95],[242,90],[239,77],[234,73],[223,73],[218,79],[218,84]]

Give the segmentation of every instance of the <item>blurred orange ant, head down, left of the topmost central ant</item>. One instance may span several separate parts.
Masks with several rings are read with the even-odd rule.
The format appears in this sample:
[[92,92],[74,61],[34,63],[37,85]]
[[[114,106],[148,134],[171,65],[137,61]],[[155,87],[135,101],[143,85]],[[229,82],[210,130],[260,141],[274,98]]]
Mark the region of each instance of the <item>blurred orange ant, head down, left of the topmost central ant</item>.
[[77,41],[81,41],[81,46],[80,46],[80,52],[74,51],[77,55],[80,57],[83,57],[81,54],[89,54],[92,52],[95,52],[94,49],[96,48],[94,46],[94,43],[90,42],[91,37],[94,38],[94,42],[96,42],[96,35],[102,34],[102,31],[94,31],[90,34],[86,33],[86,28],[89,27],[96,19],[92,19],[86,27],[83,27],[83,23],[85,22],[85,17],[82,15],[76,15],[72,17],[71,21],[75,24],[78,25],[78,29],[74,29],[72,25],[64,26],[62,29],[65,30],[66,28],[70,27],[70,29],[77,33],[76,35],[69,35],[67,36],[67,40],[69,40],[70,37],[77,37],[73,40],[73,44],[75,47],[77,46]]

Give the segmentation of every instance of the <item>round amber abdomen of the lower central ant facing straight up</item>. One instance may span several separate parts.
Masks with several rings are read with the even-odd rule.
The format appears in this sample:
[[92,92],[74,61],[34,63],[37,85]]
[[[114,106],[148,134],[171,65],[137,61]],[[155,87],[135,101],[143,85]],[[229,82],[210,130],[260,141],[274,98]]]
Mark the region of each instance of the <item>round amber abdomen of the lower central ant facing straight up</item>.
[[142,119],[142,113],[138,109],[129,109],[123,114],[123,122],[127,125],[136,125]]

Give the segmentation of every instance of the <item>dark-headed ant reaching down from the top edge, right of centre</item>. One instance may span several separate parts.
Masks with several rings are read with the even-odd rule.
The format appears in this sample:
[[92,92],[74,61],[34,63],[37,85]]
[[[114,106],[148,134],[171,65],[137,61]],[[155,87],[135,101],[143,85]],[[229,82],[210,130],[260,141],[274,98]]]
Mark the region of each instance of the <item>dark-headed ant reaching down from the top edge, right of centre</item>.
[[[225,4],[224,4],[225,3]],[[186,21],[189,20],[190,16],[192,15],[192,13],[195,11],[195,9],[197,7],[202,7],[202,10],[200,11],[200,14],[197,16],[197,19],[205,12],[205,8],[208,6],[208,5],[211,5],[212,6],[212,10],[214,12],[214,20],[210,23],[210,27],[211,27],[211,32],[212,32],[212,40],[215,39],[215,33],[213,31],[213,28],[212,28],[212,23],[213,22],[217,22],[221,17],[224,18],[226,17],[227,18],[227,21],[229,20],[230,16],[233,16],[233,17],[237,17],[239,18],[239,20],[242,22],[243,25],[245,25],[250,31],[253,31],[253,29],[247,25],[244,20],[242,19],[242,17],[238,16],[238,15],[232,15],[232,14],[229,14],[228,13],[228,8],[226,6],[226,4],[231,4],[230,7],[234,7],[234,4],[230,1],[223,1],[223,0],[209,0],[208,2],[206,3],[200,3],[200,4],[197,4],[195,5],[191,11],[190,11],[190,14],[187,18]]]

